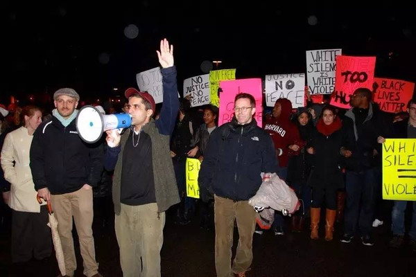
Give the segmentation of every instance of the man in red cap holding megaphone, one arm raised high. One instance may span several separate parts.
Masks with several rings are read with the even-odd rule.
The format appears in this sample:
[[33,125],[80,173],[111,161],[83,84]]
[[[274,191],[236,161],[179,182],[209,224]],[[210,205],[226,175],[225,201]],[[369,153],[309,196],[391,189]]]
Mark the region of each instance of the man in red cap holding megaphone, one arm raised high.
[[160,276],[165,211],[180,202],[169,148],[177,99],[173,46],[166,39],[157,51],[163,76],[163,106],[153,120],[155,100],[147,92],[127,89],[130,129],[107,131],[105,168],[114,169],[116,238],[123,276]]

